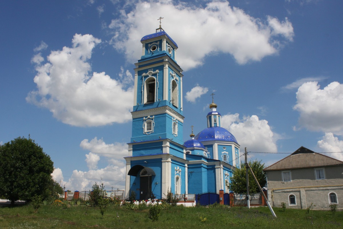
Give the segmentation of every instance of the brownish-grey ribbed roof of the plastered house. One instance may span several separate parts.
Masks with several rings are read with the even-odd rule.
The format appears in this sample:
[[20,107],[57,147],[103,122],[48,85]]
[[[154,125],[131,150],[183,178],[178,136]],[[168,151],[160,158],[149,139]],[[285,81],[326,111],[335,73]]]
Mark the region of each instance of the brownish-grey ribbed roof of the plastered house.
[[315,153],[312,150],[301,146],[291,155],[275,162],[273,165],[268,166],[263,170],[297,169],[332,165],[343,165],[343,161],[323,154]]

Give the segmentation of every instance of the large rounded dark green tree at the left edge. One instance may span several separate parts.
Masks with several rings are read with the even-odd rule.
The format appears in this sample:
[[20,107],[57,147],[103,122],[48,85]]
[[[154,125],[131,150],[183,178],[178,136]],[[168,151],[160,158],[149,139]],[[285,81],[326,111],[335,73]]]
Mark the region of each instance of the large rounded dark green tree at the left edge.
[[0,193],[11,201],[47,197],[54,163],[31,138],[18,137],[0,146]]

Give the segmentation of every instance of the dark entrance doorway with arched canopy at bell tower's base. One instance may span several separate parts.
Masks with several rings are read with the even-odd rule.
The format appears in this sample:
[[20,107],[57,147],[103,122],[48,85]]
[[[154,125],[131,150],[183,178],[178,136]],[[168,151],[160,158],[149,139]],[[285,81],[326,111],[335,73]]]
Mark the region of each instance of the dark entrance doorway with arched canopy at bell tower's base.
[[139,176],[139,198],[141,200],[151,198],[152,176],[156,176],[154,170],[149,167],[135,165],[129,170],[128,175],[135,177]]

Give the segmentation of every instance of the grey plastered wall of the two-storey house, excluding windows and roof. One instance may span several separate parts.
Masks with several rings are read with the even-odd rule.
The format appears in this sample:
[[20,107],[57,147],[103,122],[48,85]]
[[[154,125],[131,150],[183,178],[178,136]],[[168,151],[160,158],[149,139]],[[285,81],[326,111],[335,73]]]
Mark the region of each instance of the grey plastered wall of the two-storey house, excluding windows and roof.
[[[315,169],[324,168],[325,179],[316,180]],[[291,171],[291,182],[282,181],[282,171]],[[327,166],[289,170],[266,171],[269,202],[281,207],[306,209],[313,203],[313,209],[330,209],[329,194],[337,196],[337,205],[343,209],[343,166]],[[289,203],[289,195],[296,197],[296,205]],[[315,205],[315,206],[314,206]]]

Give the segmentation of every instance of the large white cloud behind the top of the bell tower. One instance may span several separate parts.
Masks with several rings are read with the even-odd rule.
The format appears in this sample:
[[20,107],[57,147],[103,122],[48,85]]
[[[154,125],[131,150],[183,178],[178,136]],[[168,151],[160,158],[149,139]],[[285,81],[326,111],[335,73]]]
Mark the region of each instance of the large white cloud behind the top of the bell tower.
[[149,31],[155,32],[156,18],[161,15],[162,28],[180,47],[176,59],[184,70],[195,68],[203,64],[207,55],[220,52],[230,54],[239,64],[260,61],[277,53],[294,36],[287,18],[254,18],[227,1],[211,1],[205,7],[185,2],[134,1],[132,6],[130,12],[122,10],[121,16],[108,26],[114,31],[111,44],[124,52],[130,63],[141,56],[137,41]]

